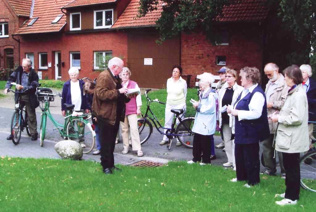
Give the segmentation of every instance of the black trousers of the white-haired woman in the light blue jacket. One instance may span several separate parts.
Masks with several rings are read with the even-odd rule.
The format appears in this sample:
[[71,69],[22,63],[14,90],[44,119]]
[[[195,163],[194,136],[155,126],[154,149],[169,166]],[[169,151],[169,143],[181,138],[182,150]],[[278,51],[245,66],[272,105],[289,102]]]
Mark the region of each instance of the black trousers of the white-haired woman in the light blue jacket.
[[[194,162],[201,161],[203,163],[211,163],[211,141],[214,141],[213,135],[201,135],[194,133],[193,137],[193,160]],[[201,154],[203,155],[201,156]]]

